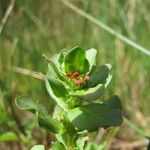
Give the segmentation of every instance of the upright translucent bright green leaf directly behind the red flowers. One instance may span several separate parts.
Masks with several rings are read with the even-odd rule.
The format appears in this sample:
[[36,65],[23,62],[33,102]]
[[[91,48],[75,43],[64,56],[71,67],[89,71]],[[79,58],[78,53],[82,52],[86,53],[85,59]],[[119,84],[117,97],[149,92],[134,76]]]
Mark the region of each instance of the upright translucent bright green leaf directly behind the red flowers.
[[66,54],[64,65],[66,73],[86,74],[89,71],[89,62],[86,59],[85,51],[79,47],[73,48]]

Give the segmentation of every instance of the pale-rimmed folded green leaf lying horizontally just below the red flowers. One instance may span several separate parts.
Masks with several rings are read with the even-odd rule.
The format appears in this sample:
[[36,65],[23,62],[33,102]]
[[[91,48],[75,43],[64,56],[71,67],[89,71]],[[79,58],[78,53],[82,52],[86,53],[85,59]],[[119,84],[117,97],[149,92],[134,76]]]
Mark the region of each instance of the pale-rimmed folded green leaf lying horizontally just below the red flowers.
[[97,100],[104,93],[104,90],[105,86],[103,84],[98,84],[93,88],[72,92],[70,96],[77,97],[85,101]]

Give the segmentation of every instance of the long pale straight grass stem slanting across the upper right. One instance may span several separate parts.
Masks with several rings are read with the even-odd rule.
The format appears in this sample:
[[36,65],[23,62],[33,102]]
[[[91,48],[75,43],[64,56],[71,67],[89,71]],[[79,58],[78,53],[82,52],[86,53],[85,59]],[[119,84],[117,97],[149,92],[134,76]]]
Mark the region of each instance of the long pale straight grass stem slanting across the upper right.
[[68,2],[68,0],[60,0],[60,1],[63,2],[70,9],[74,10],[75,12],[77,12],[79,15],[87,18],[88,20],[90,20],[91,22],[93,22],[94,24],[96,24],[97,26],[101,27],[103,30],[109,32],[110,34],[116,36],[121,41],[127,43],[128,45],[130,45],[130,46],[136,48],[137,50],[143,52],[144,54],[147,54],[147,55],[150,56],[150,50],[145,49],[143,46],[137,44],[136,42],[134,42],[134,41],[132,41],[130,39],[128,39],[127,37],[123,36],[122,34],[116,32],[115,30],[113,30],[109,26],[105,25],[100,20],[98,20],[95,17],[93,17],[93,16],[89,15],[88,13],[84,12],[80,8],[76,7],[74,4]]

